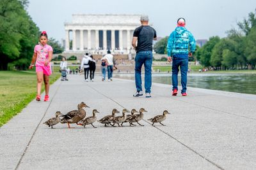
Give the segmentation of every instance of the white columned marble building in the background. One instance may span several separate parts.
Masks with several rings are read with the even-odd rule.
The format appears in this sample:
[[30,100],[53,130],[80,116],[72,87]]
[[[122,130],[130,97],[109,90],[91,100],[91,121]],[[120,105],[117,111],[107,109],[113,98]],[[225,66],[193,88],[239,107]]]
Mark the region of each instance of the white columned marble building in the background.
[[140,16],[72,15],[72,22],[65,23],[65,53],[134,53],[131,41]]

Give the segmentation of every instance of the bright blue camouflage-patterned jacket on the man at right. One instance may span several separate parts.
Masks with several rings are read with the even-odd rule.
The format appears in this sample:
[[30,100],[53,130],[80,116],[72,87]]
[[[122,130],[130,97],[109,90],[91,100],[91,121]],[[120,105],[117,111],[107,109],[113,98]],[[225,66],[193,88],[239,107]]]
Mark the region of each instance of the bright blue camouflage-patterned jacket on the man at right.
[[176,27],[170,34],[167,43],[168,56],[183,55],[188,57],[189,52],[195,52],[196,41],[194,36],[185,27]]

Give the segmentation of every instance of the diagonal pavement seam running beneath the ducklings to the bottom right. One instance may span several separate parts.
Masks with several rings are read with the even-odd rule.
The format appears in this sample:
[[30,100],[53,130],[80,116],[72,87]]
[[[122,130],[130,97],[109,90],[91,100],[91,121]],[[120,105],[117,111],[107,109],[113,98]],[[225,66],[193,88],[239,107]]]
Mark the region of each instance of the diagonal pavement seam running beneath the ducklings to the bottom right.
[[[91,89],[95,90],[96,92],[98,92],[99,94],[102,94],[102,92],[99,92],[98,90],[94,89],[93,87],[91,87],[90,85],[88,85],[88,87],[90,87]],[[122,104],[116,102],[115,100],[111,99],[110,97],[106,96],[105,94],[102,94],[102,96],[107,97],[108,99],[110,99],[111,101],[113,101],[114,103],[118,104],[119,106],[121,106],[122,108],[125,108],[124,106],[122,106]],[[144,120],[144,119],[143,119]],[[147,122],[147,120],[144,120],[145,122]],[[147,122],[148,124],[150,124],[149,122]],[[151,125],[151,124],[150,124]],[[182,143],[181,141],[179,141],[178,139],[174,138],[172,135],[168,134],[167,132],[164,132],[163,130],[159,129],[156,126],[152,126],[155,127],[158,131],[163,132],[164,134],[166,134],[167,136],[169,136],[170,138],[174,139],[175,141],[177,141],[178,143],[180,143],[181,145],[185,146],[186,148],[188,148],[189,150],[191,150],[192,152],[196,153],[196,155],[202,157],[203,159],[207,160],[207,162],[211,163],[213,166],[218,167],[221,170],[224,170],[223,167],[219,166],[218,164],[212,162],[211,160],[207,159],[206,157],[204,157],[203,155],[201,155],[200,153],[196,152],[195,150],[193,150],[192,148],[190,148],[189,146],[185,145],[184,143]]]

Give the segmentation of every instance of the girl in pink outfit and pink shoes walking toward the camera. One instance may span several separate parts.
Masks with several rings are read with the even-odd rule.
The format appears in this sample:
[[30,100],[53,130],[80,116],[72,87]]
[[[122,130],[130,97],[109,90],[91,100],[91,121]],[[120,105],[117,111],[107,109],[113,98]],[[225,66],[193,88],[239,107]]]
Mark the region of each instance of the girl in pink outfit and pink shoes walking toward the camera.
[[40,43],[34,48],[34,55],[32,57],[29,69],[36,66],[36,77],[37,77],[37,94],[36,101],[41,101],[41,87],[44,81],[45,96],[44,101],[49,101],[49,76],[52,74],[51,60],[52,60],[52,47],[47,45],[47,33],[45,31],[40,34]]

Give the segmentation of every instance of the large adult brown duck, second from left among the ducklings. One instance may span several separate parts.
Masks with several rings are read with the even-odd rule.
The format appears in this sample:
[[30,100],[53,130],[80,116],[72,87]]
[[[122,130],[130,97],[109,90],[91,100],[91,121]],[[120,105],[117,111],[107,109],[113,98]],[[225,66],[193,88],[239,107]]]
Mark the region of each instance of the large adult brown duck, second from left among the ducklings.
[[[83,108],[90,108],[85,103],[81,102],[77,105],[78,110],[69,111],[66,115],[61,115],[61,124],[68,124],[68,128],[70,128],[69,124],[77,124],[77,122],[83,120],[86,117],[86,111]],[[81,125],[81,124],[77,124]]]

